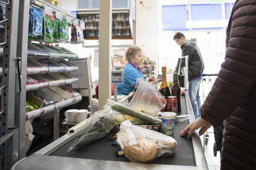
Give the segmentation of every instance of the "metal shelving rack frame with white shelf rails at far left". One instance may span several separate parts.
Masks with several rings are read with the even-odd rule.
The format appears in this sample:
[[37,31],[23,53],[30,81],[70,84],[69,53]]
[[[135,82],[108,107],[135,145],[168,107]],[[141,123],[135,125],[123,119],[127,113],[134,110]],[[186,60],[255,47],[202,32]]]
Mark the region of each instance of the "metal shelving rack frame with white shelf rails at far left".
[[[80,25],[84,23],[67,11],[47,1],[38,0],[34,2],[41,2],[42,6],[40,8],[48,6],[53,8],[54,11],[60,12],[63,14],[63,17],[65,16],[69,19],[69,22],[77,21]],[[2,58],[2,61],[0,61],[0,74],[2,76],[0,87],[2,98],[0,110],[0,169],[5,170],[11,169],[15,162],[25,157],[25,120],[31,120],[54,112],[54,139],[57,139],[59,109],[80,102],[82,97],[70,88],[61,86],[63,90],[69,91],[72,97],[69,99],[59,97],[62,100],[58,100],[52,105],[31,112],[25,112],[27,91],[43,91],[51,87],[78,81],[78,78],[71,77],[63,80],[42,82],[34,85],[34,87],[33,85],[27,86],[25,78],[27,75],[66,74],[65,72],[78,69],[78,67],[72,64],[69,64],[67,67],[63,65],[60,67],[27,67],[28,59],[36,59],[37,61],[49,59],[52,62],[65,62],[63,59],[78,58],[78,56],[69,53],[51,53],[28,47],[30,1],[2,0],[0,3],[6,4],[5,20],[0,21],[0,25],[5,26],[4,38],[0,37],[0,45],[2,46],[0,47],[0,56]]]

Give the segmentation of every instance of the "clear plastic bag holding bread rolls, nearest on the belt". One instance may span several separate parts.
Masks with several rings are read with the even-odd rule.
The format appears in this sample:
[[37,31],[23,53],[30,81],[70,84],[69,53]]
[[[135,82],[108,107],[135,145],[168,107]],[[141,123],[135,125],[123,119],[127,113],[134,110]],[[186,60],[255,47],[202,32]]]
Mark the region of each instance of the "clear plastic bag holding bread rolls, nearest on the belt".
[[132,162],[150,162],[163,154],[172,155],[178,145],[172,137],[132,125],[129,120],[120,125],[117,144]]

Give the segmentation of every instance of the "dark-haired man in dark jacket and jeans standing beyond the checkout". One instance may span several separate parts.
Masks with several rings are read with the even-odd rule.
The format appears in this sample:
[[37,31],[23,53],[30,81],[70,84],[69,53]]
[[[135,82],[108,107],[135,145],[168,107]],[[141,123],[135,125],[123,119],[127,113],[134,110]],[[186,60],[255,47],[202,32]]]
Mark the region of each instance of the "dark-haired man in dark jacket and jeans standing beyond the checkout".
[[[189,98],[193,108],[195,118],[200,117],[201,99],[199,96],[199,87],[202,81],[202,71],[204,71],[204,62],[201,52],[196,46],[196,41],[187,40],[181,32],[176,32],[173,40],[181,46],[182,56],[189,56]],[[184,63],[181,63],[184,65]]]

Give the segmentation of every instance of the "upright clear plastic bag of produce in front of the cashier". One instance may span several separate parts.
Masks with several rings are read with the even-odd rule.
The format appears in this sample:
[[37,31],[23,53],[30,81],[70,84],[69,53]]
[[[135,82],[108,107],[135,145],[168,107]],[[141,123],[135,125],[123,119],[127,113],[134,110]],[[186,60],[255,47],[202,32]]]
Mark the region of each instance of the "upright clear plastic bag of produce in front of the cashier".
[[152,85],[142,80],[129,106],[155,117],[166,106],[166,99]]

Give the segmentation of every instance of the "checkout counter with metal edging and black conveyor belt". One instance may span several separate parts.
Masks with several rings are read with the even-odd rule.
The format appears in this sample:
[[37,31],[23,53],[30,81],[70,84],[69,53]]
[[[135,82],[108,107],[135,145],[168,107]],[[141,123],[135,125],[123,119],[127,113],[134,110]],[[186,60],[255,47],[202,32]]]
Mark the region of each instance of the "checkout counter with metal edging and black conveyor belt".
[[[181,97],[181,115],[193,115],[189,96]],[[208,169],[201,139],[196,131],[192,139],[181,137],[184,129],[194,117],[175,124],[173,138],[178,142],[176,152],[172,156],[161,156],[150,163],[133,163],[124,156],[116,157],[116,146],[111,146],[108,137],[99,139],[84,148],[67,152],[79,134],[64,135],[29,157],[25,157],[11,169]]]

